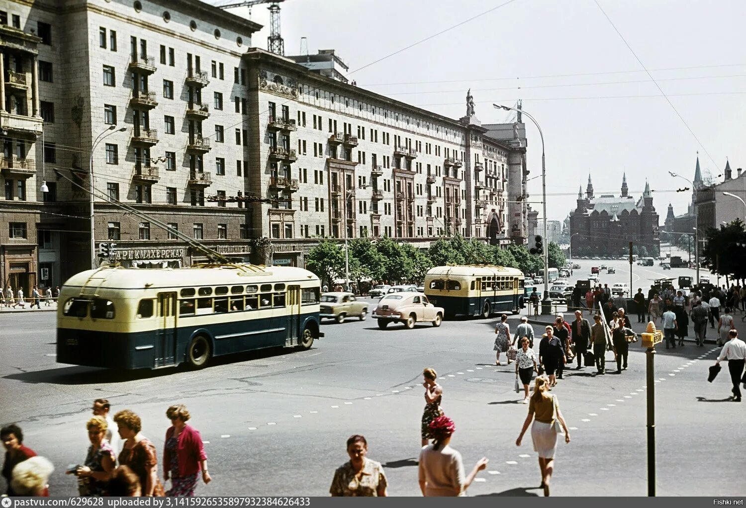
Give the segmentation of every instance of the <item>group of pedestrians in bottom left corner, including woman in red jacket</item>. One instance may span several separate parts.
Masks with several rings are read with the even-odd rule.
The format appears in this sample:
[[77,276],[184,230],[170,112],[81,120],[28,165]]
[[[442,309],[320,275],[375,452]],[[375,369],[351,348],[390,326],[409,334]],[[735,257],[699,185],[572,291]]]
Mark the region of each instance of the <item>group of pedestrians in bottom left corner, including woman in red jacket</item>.
[[[142,434],[142,420],[131,410],[110,414],[110,403],[99,398],[93,403],[93,417],[86,422],[87,453],[81,465],[66,469],[76,477],[81,496],[192,496],[198,479],[210,483],[207,455],[198,430],[186,422],[184,404],[166,410],[171,427],[163,447],[163,480],[171,481],[166,491],[157,474],[155,445]],[[2,476],[8,496],[48,496],[48,478],[54,466],[23,444],[23,431],[16,424],[0,430],[5,447]]]

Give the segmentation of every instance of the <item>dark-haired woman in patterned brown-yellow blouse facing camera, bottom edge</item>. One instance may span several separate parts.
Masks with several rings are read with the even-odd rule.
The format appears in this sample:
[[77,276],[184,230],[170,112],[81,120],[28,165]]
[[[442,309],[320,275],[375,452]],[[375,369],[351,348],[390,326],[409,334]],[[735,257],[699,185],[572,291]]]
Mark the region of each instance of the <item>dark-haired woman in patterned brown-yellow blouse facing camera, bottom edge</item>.
[[375,497],[387,496],[389,486],[380,462],[366,458],[368,442],[360,435],[347,440],[350,461],[340,465],[334,472],[329,492],[333,496]]

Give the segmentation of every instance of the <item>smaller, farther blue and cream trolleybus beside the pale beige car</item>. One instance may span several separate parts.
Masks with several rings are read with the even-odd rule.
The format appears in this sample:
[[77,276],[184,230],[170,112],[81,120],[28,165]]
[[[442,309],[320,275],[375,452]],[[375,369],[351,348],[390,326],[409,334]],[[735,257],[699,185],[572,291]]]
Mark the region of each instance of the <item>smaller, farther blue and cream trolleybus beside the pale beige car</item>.
[[489,318],[492,313],[518,313],[525,298],[523,281],[523,272],[504,266],[436,266],[424,277],[424,294],[443,307],[446,318]]

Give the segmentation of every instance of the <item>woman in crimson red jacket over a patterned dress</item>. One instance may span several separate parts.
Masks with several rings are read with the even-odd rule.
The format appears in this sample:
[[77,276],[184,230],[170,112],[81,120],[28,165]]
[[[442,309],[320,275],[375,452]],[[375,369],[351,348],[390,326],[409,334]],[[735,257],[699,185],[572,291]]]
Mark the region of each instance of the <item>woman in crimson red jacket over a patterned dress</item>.
[[184,404],[175,404],[166,411],[172,426],[166,430],[166,445],[163,447],[163,477],[171,477],[168,496],[192,496],[197,486],[197,477],[202,471],[202,481],[210,483],[207,472],[207,455],[199,432],[189,425],[189,411]]

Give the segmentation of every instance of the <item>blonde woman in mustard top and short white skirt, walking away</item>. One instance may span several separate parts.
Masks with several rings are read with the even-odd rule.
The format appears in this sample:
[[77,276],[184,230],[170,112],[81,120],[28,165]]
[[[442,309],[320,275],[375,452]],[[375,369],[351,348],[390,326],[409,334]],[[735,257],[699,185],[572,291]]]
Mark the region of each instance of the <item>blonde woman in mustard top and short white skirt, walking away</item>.
[[565,423],[565,418],[560,411],[560,404],[557,402],[557,395],[548,393],[549,384],[546,377],[536,377],[536,384],[533,387],[533,395],[528,405],[528,415],[523,422],[523,428],[518,439],[515,440],[516,446],[521,446],[523,439],[531,420],[534,420],[531,426],[531,439],[533,440],[533,449],[539,454],[539,469],[542,471],[542,488],[544,495],[549,495],[549,483],[552,473],[554,472],[554,451],[557,448],[557,434],[565,432],[565,443],[570,442],[570,431]]

